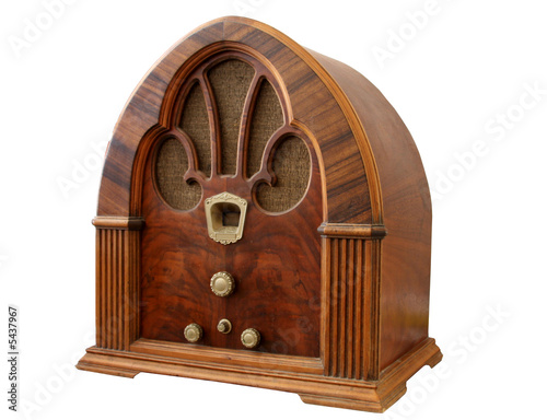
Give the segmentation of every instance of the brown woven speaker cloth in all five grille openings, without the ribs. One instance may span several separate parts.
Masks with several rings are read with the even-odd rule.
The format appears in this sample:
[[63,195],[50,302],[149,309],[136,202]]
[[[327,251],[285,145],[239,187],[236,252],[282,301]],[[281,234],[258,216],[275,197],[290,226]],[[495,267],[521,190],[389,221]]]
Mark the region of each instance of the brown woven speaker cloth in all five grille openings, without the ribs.
[[[235,175],[237,141],[243,108],[255,70],[244,61],[229,59],[209,70],[207,77],[217,104],[220,127],[220,170],[222,174]],[[254,109],[249,109],[251,122],[246,141],[246,176],[260,170],[264,150],[277,129],[283,125],[281,104],[271,84],[264,79],[258,88]],[[203,92],[195,83],[185,100],[178,127],[190,138],[197,153],[198,168],[207,176],[211,174],[211,127]],[[256,188],[257,203],[269,212],[283,212],[299,203],[305,195],[311,174],[310,151],[304,141],[291,136],[281,141],[269,156],[276,175],[272,187],[260,184]],[[201,187],[186,183],[188,156],[176,139],[160,145],[155,164],[156,185],[164,200],[175,209],[189,210],[201,199]],[[219,191],[220,192],[220,191]]]

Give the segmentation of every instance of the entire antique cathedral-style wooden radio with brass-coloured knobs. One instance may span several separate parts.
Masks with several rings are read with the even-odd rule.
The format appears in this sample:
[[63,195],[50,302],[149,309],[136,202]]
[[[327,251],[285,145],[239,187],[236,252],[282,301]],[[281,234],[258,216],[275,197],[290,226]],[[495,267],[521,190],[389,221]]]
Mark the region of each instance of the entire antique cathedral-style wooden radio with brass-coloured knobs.
[[79,369],[383,411],[442,358],[409,132],[361,74],[259,22],[208,23],[144,77],[93,224],[96,346]]

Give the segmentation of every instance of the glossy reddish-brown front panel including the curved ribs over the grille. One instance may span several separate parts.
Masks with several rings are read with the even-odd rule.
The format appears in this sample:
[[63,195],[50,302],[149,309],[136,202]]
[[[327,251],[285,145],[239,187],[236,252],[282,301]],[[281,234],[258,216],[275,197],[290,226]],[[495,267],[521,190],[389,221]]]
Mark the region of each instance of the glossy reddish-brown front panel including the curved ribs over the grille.
[[[240,107],[242,113],[233,175],[223,174],[224,144],[220,130],[219,97],[211,94],[207,72],[225,60],[240,60],[255,69],[248,94]],[[291,108],[265,62],[236,49],[212,50],[211,56],[188,69],[186,80],[166,109],[171,126],[141,143],[150,152],[143,172],[142,205],[139,213],[147,221],[142,231],[140,282],[141,337],[173,342],[186,342],[184,329],[197,323],[203,337],[197,345],[243,349],[240,336],[246,328],[261,334],[255,351],[319,357],[321,247],[317,226],[323,221],[322,188],[318,162],[306,135],[289,124]],[[266,79],[276,90],[286,121],[271,132],[265,144],[260,171],[247,175],[246,142],[259,84]],[[198,161],[186,133],[176,125],[190,86],[199,81],[208,104],[211,124],[211,175],[198,171]],[[234,110],[232,110],[234,112]],[[237,112],[235,109],[235,112]],[[311,153],[311,179],[307,194],[293,209],[280,214],[260,210],[256,187],[271,183],[271,159],[276,147],[289,136],[306,142]],[[155,155],[164,139],[179,141],[188,155],[186,179],[194,179],[202,190],[198,206],[187,211],[170,207],[159,194],[155,179]],[[235,139],[237,140],[237,139]],[[284,159],[290,159],[286,156]],[[307,184],[307,179],[306,179]],[[207,232],[206,198],[229,191],[246,200],[247,211],[243,238],[225,246],[212,241]],[[279,246],[282,244],[282,246]],[[229,298],[214,295],[209,287],[211,276],[228,271],[236,282]],[[265,302],[268,304],[266,305]],[[220,319],[233,325],[229,335],[217,331]]]

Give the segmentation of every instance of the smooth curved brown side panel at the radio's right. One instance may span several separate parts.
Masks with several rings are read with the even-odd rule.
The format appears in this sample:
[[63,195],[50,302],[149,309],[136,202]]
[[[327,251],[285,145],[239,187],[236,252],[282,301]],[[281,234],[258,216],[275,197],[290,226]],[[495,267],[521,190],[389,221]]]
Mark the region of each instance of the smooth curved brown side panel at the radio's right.
[[377,164],[382,185],[381,369],[428,337],[431,198],[416,144],[380,91],[331,58],[313,56],[354,106]]

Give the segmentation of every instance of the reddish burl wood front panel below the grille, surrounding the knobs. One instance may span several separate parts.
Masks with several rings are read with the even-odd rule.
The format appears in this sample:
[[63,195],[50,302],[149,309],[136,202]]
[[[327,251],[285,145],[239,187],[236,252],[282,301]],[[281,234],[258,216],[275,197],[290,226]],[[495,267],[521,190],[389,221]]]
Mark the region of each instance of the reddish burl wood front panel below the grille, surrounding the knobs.
[[[244,349],[241,332],[256,328],[260,346],[253,351],[319,355],[322,222],[317,160],[312,159],[309,192],[296,208],[269,215],[252,199],[247,182],[216,177],[203,183],[203,199],[191,211],[170,208],[153,183],[153,154],[144,171],[141,245],[141,337],[187,342],[184,328],[197,323],[203,338],[193,346]],[[205,198],[230,191],[247,200],[243,238],[222,245],[207,232]],[[235,292],[211,292],[213,273],[229,271]],[[217,331],[232,322],[229,335]]]

